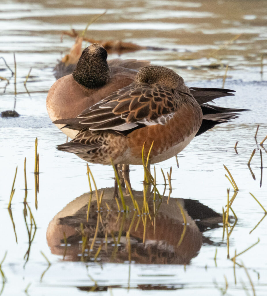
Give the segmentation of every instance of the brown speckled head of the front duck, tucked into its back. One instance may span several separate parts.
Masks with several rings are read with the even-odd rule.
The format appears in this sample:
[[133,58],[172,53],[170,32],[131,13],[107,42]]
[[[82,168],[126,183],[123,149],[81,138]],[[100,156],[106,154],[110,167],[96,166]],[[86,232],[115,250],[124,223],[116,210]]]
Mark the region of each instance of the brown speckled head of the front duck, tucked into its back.
[[148,83],[152,85],[159,83],[170,89],[180,89],[181,91],[189,91],[185,86],[184,80],[181,76],[175,73],[173,70],[162,66],[145,66],[139,70],[136,75],[136,84]]

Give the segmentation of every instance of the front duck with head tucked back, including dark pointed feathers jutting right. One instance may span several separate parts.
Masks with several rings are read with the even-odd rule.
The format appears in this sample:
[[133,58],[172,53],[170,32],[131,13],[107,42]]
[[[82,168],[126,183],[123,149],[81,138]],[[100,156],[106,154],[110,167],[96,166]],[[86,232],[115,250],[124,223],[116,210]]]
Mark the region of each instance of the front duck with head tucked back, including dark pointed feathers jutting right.
[[150,162],[157,163],[181,152],[198,134],[237,117],[230,109],[206,104],[233,95],[227,89],[189,88],[173,70],[145,66],[135,81],[96,102],[75,118],[56,120],[79,131],[59,150],[73,152],[90,163],[142,164],[154,141]]

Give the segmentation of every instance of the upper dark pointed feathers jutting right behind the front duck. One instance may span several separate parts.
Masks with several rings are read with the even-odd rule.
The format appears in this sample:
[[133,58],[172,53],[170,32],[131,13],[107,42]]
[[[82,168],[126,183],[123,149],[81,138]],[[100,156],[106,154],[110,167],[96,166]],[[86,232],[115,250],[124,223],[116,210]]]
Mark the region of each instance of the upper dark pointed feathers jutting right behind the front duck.
[[189,89],[193,97],[200,105],[223,96],[234,96],[232,93],[235,92],[232,89],[211,89],[202,87],[190,87]]

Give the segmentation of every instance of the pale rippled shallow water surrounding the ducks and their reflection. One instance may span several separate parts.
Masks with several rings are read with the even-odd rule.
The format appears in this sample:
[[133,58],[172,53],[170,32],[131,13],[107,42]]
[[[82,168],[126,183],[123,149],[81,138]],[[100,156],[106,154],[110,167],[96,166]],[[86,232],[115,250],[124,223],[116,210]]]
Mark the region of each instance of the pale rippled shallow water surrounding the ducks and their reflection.
[[[244,268],[236,266],[234,280],[233,262],[227,259],[227,241],[222,240],[222,223],[203,232],[203,244],[186,266],[179,264],[110,263],[105,256],[95,262],[71,261],[63,255],[55,255],[47,242],[46,231],[50,221],[62,213],[62,209],[74,199],[88,192],[86,164],[69,153],[59,152],[56,144],[66,141],[66,136],[50,122],[45,108],[48,89],[55,81],[53,67],[61,59],[74,40],[63,37],[62,30],[71,26],[83,30],[86,23],[107,9],[106,15],[89,26],[87,36],[98,40],[122,40],[140,46],[164,48],[162,50],[142,49],[137,52],[121,53],[120,57],[150,59],[153,64],[165,65],[178,72],[189,86],[221,87],[225,66],[229,64],[225,87],[236,90],[235,97],[216,99],[224,107],[246,108],[232,123],[222,124],[196,137],[178,155],[179,168],[175,158],[155,165],[159,192],[164,190],[160,171],[167,174],[172,166],[171,197],[199,200],[201,204],[217,213],[227,202],[227,188],[230,197],[233,189],[224,176],[226,170],[232,173],[240,191],[232,209],[237,215],[237,224],[229,239],[229,255],[233,257],[247,247],[260,242],[237,258],[244,264],[253,283],[256,295],[266,295],[266,219],[250,231],[263,218],[263,209],[249,194],[250,192],[267,207],[266,200],[266,148],[259,143],[267,134],[267,81],[266,56],[266,1],[1,1],[0,56],[14,70],[13,52],[17,62],[17,96],[14,96],[14,77],[0,59],[0,76],[10,79],[0,81],[1,106],[4,110],[15,110],[19,118],[0,118],[0,217],[1,246],[0,261],[6,282],[2,295],[82,295],[83,290],[94,287],[101,295],[144,295],[146,290],[154,294],[176,295],[183,289],[183,295],[246,295],[245,289],[253,295],[252,286]],[[237,38],[237,35],[241,34]],[[231,41],[233,39],[236,41]],[[83,46],[87,46],[84,42]],[[118,53],[109,54],[110,58]],[[23,82],[32,67],[25,89]],[[261,73],[261,70],[263,72]],[[29,93],[27,93],[27,91]],[[260,125],[257,142],[254,139]],[[34,142],[38,137],[40,175],[38,210],[35,210]],[[237,153],[234,146],[236,141]],[[266,144],[265,144],[266,146]],[[256,149],[247,166],[249,157]],[[260,149],[263,157],[262,186]],[[24,158],[28,197],[37,230],[33,238],[29,258],[24,258],[29,247],[29,237],[23,216]],[[15,194],[12,200],[12,215],[17,235],[6,209],[16,166]],[[111,167],[90,165],[98,188],[113,186]],[[131,167],[131,185],[137,191],[143,190],[141,166]],[[106,193],[107,194],[107,193]],[[166,194],[169,194],[168,186]],[[104,194],[105,197],[105,194]],[[80,200],[77,199],[77,200]],[[78,207],[77,207],[78,209]],[[69,215],[69,214],[68,214]],[[232,215],[232,213],[231,213]],[[30,227],[30,218],[27,216]],[[193,223],[193,222],[192,222]],[[231,225],[233,219],[231,220]],[[3,227],[4,226],[4,227]],[[202,230],[203,231],[203,230]],[[31,235],[33,235],[32,229]],[[176,233],[170,233],[175,237]],[[31,237],[32,238],[32,237]],[[123,244],[123,240],[121,242]],[[78,246],[79,247],[79,246]],[[214,255],[217,250],[216,261]],[[42,251],[51,262],[48,264],[40,254]],[[174,261],[172,262],[174,263]],[[48,269],[47,269],[48,268]],[[46,270],[47,269],[47,270]],[[45,272],[45,273],[44,273]],[[43,274],[44,273],[44,274]],[[1,278],[0,278],[1,279]],[[226,284],[227,281],[227,284]],[[83,288],[82,288],[83,287]],[[152,291],[150,292],[152,293]]]

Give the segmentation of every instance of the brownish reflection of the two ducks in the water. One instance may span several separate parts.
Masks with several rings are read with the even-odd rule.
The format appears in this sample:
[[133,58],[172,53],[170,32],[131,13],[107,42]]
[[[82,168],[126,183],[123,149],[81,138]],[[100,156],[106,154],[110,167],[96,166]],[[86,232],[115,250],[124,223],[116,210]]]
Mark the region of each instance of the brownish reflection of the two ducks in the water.
[[[133,194],[142,209],[143,192],[134,191]],[[196,200],[182,198],[169,198],[169,201],[167,197],[156,201],[150,198],[147,200],[148,213],[139,215],[131,197],[125,196],[129,211],[123,213],[118,211],[113,188],[104,189],[100,212],[96,194],[92,193],[87,221],[90,195],[83,194],[67,204],[48,226],[48,246],[53,254],[65,253],[64,260],[189,264],[201,248],[202,232],[220,227],[219,223],[222,223],[222,215]],[[121,201],[118,202],[122,209]],[[87,240],[84,251],[82,237]],[[209,239],[206,242],[212,243]]]

